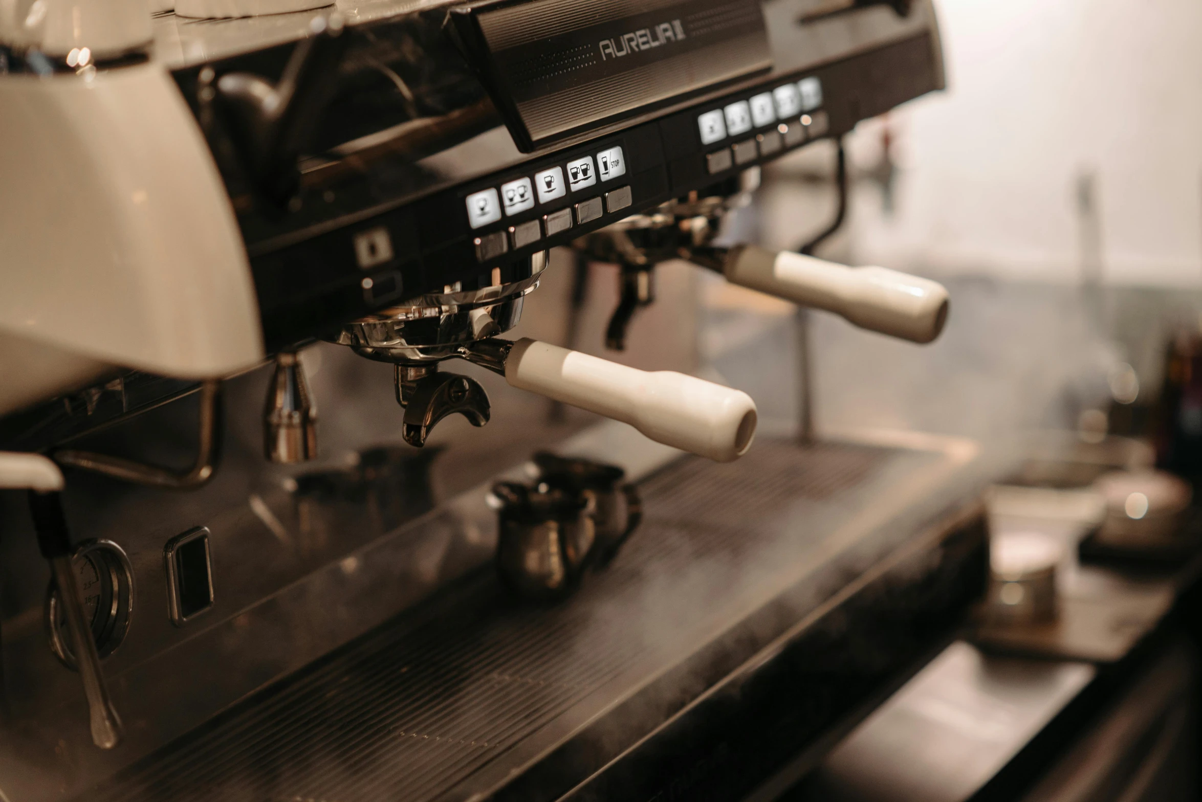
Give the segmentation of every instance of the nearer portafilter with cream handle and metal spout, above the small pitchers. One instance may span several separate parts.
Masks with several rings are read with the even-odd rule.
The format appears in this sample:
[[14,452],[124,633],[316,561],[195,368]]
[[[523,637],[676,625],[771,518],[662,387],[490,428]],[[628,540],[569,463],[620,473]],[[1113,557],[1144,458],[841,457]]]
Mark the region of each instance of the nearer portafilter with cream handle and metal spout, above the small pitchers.
[[415,298],[344,327],[334,342],[395,367],[397,401],[405,408],[404,437],[422,445],[439,420],[462,414],[488,423],[488,395],[475,379],[439,371],[451,359],[500,373],[510,387],[630,424],[665,445],[728,462],[751,444],[755,402],[748,394],[672,371],[647,372],[535,340],[511,342],[537,275],[510,285]]

